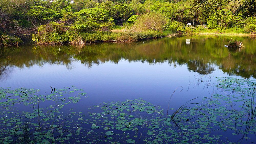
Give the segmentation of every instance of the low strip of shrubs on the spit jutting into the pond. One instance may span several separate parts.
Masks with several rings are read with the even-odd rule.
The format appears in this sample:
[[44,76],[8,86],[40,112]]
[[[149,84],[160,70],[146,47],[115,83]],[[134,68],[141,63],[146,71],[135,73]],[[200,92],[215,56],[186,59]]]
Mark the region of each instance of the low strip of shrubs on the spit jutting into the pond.
[[[139,39],[157,38],[165,36],[159,31],[143,32],[122,32],[115,33],[110,31],[82,31],[88,26],[75,25],[66,26],[63,23],[51,22],[41,25],[38,34],[33,34],[32,39],[38,44],[60,44],[69,42],[72,45],[83,45],[91,42],[113,41],[113,42],[134,42]],[[81,30],[80,32],[76,30]]]

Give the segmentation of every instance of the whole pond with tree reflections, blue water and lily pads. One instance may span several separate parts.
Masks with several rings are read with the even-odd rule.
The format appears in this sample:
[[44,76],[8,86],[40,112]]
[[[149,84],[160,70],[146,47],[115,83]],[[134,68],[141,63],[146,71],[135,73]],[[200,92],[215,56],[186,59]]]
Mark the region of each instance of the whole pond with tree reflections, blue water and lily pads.
[[[243,42],[236,51],[230,39]],[[0,143],[253,143],[256,39],[0,49]]]

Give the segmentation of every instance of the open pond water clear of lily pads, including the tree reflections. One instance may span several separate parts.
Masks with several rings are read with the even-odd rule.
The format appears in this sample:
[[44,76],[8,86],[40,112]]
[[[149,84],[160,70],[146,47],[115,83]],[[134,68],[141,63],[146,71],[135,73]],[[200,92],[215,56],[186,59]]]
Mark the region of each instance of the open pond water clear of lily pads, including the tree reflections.
[[[243,42],[245,48],[240,52],[229,51],[224,45],[231,38]],[[0,52],[0,87],[40,89],[39,94],[47,95],[51,94],[51,87],[57,90],[75,86],[87,93],[87,98],[67,105],[63,112],[74,108],[77,112],[87,113],[93,105],[142,98],[161,106],[166,115],[170,96],[178,87],[169,103],[169,108],[174,108],[168,111],[171,115],[193,98],[211,97],[216,77],[256,78],[254,37],[184,36],[83,47],[22,46],[1,49]],[[20,107],[22,110],[27,108]],[[227,142],[227,136],[235,143],[240,139],[234,140],[230,135],[232,132],[218,134],[224,135],[222,142]],[[145,137],[143,132],[142,135]],[[138,137],[134,138],[135,143],[146,143]],[[256,138],[255,135],[250,137]],[[244,142],[247,141],[243,139]]]

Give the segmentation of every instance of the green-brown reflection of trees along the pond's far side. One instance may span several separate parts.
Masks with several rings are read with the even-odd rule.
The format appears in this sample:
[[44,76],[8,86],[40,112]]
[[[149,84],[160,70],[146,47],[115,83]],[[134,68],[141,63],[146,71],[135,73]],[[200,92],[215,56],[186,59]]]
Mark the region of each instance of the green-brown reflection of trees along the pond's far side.
[[[131,44],[96,43],[87,46],[24,46],[1,51],[0,75],[7,67],[30,68],[45,63],[65,65],[72,69],[74,61],[90,68],[93,64],[130,62],[187,65],[188,70],[210,74],[215,65],[230,75],[256,78],[255,37],[232,37],[242,41],[244,49],[229,51],[224,47],[230,36],[192,36],[147,40]],[[1,78],[2,79],[2,78]]]

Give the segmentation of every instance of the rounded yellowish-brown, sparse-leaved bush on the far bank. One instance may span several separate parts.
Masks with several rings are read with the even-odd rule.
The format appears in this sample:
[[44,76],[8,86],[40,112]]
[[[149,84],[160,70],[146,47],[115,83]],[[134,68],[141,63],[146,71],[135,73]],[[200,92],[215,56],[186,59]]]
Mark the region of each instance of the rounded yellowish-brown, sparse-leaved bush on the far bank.
[[155,30],[162,31],[167,23],[163,14],[147,13],[138,17],[135,25],[130,29],[131,31],[147,31]]

